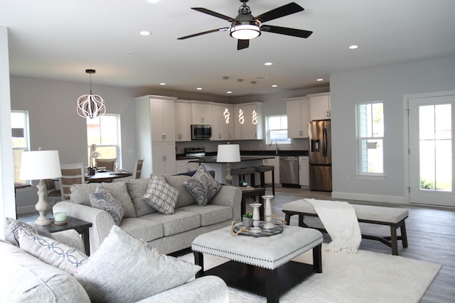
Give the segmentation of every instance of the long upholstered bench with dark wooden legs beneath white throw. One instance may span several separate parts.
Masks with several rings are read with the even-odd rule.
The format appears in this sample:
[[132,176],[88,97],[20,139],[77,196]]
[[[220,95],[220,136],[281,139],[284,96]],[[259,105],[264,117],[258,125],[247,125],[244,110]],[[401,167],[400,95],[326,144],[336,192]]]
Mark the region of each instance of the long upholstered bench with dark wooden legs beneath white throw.
[[[336,203],[336,202],[334,202]],[[398,240],[402,241],[402,246],[407,247],[407,234],[405,219],[409,215],[407,209],[394,207],[371,206],[350,204],[355,209],[355,214],[359,222],[390,226],[390,236],[371,236],[362,233],[362,238],[376,240],[392,248],[392,254],[398,255]],[[283,204],[282,211],[286,214],[286,222],[289,224],[291,216],[299,215],[299,226],[309,227],[304,223],[304,216],[318,216],[313,205],[304,199],[296,200]],[[397,236],[397,228],[400,227],[401,236]],[[326,233],[324,228],[316,228]]]

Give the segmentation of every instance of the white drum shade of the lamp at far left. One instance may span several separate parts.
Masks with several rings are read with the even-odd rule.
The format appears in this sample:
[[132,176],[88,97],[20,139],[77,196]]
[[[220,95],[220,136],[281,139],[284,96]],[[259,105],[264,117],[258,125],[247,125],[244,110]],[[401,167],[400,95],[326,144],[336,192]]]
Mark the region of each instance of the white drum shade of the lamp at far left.
[[58,150],[36,150],[21,155],[21,180],[43,180],[62,177]]

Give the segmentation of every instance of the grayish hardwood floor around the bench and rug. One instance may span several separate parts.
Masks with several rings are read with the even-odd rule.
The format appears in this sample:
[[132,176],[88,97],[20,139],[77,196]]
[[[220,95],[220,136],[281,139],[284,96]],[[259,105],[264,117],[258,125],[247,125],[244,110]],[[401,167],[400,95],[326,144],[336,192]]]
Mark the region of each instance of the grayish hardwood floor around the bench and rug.
[[[272,194],[269,188],[266,189],[266,193]],[[335,200],[331,198],[331,193],[329,192],[311,192],[309,189],[276,187],[275,197],[272,199],[272,212],[284,218],[282,204],[303,198]],[[399,242],[399,255],[405,258],[442,265],[441,270],[434,278],[432,285],[429,286],[420,302],[455,302],[455,209],[362,201],[348,202],[409,209],[410,214],[406,219],[409,246],[402,248]],[[249,204],[248,201],[247,204]],[[248,209],[251,211],[251,208],[248,207],[247,211]],[[298,225],[297,216],[291,217],[290,224]],[[361,224],[360,228],[365,233],[390,235],[390,228],[388,226]],[[330,237],[324,235],[324,241],[330,241]],[[373,240],[362,239],[360,249],[378,253],[392,253],[388,246]]]

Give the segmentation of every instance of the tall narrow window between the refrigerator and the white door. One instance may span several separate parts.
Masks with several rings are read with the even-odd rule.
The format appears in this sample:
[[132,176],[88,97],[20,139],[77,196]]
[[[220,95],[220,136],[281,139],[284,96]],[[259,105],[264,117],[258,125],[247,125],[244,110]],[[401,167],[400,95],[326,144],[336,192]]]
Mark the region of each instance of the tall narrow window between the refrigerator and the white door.
[[358,174],[384,173],[384,114],[382,102],[357,106]]

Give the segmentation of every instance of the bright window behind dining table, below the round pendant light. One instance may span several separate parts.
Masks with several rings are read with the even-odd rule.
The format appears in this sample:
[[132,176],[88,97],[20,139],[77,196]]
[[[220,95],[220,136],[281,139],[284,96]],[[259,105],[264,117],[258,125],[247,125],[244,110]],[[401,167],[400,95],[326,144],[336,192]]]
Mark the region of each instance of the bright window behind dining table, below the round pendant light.
[[120,142],[119,115],[105,114],[97,118],[87,118],[87,162],[90,162],[90,146],[96,144],[99,158],[117,158],[121,165]]

